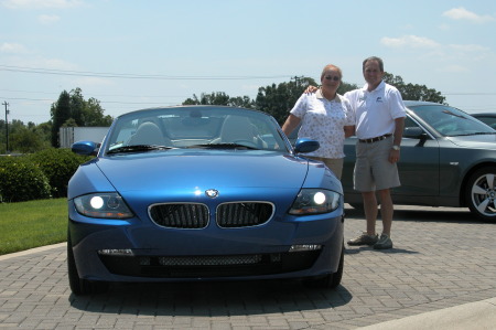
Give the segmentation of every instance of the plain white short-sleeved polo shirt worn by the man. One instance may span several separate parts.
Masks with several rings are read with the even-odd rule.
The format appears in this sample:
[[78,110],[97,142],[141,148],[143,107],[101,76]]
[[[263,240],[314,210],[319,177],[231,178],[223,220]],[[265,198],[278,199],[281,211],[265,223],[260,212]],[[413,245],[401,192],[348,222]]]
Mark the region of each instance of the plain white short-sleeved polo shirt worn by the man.
[[406,116],[406,107],[399,91],[384,81],[376,89],[368,92],[365,84],[360,89],[347,92],[346,97],[356,118],[356,137],[370,139],[395,132],[395,119]]

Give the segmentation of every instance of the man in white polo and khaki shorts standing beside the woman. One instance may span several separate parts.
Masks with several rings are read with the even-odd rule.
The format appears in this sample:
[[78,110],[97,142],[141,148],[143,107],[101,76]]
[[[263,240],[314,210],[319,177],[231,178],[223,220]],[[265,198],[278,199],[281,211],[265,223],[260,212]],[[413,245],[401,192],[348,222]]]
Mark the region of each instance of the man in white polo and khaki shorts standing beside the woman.
[[[356,163],[355,190],[362,193],[367,231],[348,245],[373,245],[376,249],[392,247],[393,204],[390,189],[400,185],[397,162],[400,159],[406,108],[399,91],[382,81],[384,63],[368,57],[363,63],[367,84],[344,95],[355,111]],[[377,199],[380,198],[382,234],[376,234]]]

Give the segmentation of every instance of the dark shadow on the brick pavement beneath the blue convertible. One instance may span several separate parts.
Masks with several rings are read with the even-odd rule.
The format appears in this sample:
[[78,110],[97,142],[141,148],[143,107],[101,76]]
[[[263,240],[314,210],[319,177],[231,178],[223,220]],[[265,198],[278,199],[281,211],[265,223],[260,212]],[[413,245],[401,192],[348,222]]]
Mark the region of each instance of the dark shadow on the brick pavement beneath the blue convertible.
[[296,280],[115,284],[106,294],[71,295],[71,306],[94,312],[143,316],[254,316],[334,308],[351,301],[343,286],[308,288]]

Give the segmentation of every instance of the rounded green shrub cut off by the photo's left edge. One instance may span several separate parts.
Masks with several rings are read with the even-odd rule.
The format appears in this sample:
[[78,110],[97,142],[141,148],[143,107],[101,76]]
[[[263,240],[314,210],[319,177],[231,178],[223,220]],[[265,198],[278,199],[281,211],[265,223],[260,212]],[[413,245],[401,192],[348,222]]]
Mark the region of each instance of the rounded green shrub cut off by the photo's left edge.
[[50,183],[43,171],[28,157],[0,158],[0,199],[23,202],[51,198]]

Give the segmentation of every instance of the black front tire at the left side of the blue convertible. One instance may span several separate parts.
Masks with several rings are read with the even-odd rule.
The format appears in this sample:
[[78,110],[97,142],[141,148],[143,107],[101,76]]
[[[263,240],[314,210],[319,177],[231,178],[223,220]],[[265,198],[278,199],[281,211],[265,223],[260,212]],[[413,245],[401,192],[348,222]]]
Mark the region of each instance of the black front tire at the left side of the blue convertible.
[[71,290],[76,296],[103,294],[108,289],[108,283],[90,281],[79,278],[69,233],[67,233],[67,275]]

